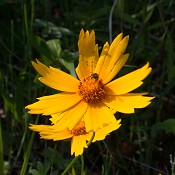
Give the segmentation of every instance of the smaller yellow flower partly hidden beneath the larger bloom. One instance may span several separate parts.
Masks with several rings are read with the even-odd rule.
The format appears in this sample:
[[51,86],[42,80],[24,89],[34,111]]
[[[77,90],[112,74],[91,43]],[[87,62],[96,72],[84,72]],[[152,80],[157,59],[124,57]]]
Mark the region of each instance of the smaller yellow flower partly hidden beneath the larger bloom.
[[[53,125],[30,125],[29,128],[39,132],[42,139],[58,141],[71,138],[71,155],[74,153],[75,156],[81,155],[84,148],[87,148],[87,141],[91,140],[93,131],[87,132],[83,121],[80,121],[72,130],[68,128],[60,130],[57,117],[57,114],[52,115],[50,120]],[[120,125],[120,120],[115,120],[115,122],[98,129],[92,142],[105,139],[107,134],[118,129]]]

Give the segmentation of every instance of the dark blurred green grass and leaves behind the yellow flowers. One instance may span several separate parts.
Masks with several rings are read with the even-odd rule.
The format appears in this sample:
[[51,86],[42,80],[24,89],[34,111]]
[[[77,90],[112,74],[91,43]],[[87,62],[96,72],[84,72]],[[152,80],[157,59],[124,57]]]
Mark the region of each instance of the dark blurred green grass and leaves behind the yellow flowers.
[[[130,57],[117,76],[149,62],[153,70],[138,91],[156,97],[134,114],[116,114],[120,129],[85,150],[86,174],[174,175],[174,0],[1,0],[0,174],[59,175],[73,159],[69,141],[41,140],[28,129],[49,122],[24,107],[55,93],[37,80],[31,61],[73,74],[82,28],[95,30],[99,52],[117,34],[129,35]],[[77,174],[80,168],[77,161]]]

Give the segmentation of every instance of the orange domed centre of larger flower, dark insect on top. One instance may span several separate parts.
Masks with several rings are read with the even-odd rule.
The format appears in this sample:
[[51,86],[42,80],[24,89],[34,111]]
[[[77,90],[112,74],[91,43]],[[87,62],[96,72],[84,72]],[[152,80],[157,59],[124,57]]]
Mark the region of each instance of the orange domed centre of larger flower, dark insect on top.
[[99,78],[97,73],[93,73],[81,81],[78,88],[79,95],[82,96],[88,104],[94,104],[100,101],[106,94],[102,79]]

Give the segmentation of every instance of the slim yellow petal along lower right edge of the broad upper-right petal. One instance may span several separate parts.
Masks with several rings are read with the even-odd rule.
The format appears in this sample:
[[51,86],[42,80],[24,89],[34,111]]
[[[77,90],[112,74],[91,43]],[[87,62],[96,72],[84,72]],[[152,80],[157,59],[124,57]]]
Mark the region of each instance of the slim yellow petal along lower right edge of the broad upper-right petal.
[[111,81],[117,73],[121,70],[121,68],[125,65],[126,61],[128,60],[129,54],[125,54],[121,56],[121,58],[116,62],[114,67],[112,68],[109,75],[106,77],[106,79],[103,79],[103,83],[106,84],[109,81]]

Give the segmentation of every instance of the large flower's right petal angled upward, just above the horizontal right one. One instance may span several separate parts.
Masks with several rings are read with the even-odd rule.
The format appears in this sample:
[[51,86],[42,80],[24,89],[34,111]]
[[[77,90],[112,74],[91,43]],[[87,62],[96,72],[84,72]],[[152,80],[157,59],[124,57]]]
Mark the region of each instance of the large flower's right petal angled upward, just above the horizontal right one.
[[108,95],[122,95],[143,84],[142,80],[148,76],[152,68],[149,63],[127,75],[124,75],[106,85]]

